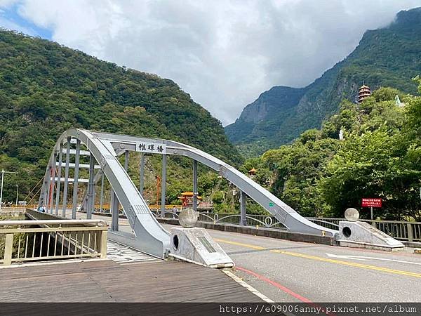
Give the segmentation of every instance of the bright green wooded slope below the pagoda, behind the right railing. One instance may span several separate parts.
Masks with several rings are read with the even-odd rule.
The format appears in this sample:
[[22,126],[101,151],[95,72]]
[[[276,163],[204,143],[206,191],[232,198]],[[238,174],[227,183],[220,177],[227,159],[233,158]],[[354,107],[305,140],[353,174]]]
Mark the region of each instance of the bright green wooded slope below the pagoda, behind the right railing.
[[380,197],[375,216],[420,221],[421,98],[380,88],[361,105],[345,100],[321,130],[305,131],[243,169],[252,167],[259,183],[304,216],[342,218],[355,207],[368,218],[361,198]]

